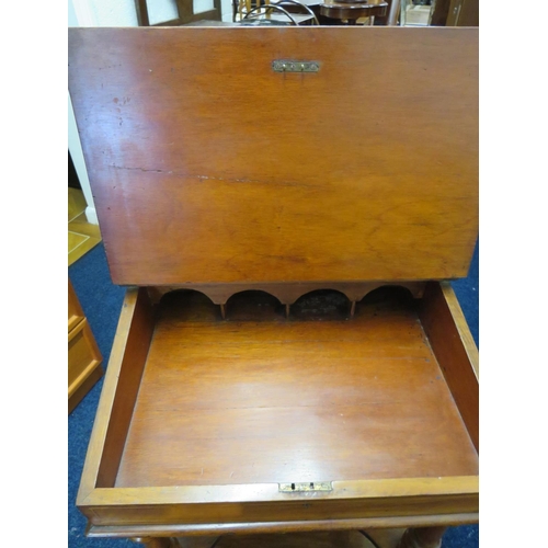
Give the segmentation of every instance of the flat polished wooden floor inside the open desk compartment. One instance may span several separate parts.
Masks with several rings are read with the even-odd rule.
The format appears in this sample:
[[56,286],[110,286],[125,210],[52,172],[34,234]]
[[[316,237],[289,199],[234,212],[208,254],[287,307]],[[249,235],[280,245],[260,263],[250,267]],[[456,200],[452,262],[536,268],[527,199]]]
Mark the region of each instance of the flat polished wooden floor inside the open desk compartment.
[[160,306],[115,487],[478,473],[413,299],[352,320],[250,300],[220,321],[197,294]]

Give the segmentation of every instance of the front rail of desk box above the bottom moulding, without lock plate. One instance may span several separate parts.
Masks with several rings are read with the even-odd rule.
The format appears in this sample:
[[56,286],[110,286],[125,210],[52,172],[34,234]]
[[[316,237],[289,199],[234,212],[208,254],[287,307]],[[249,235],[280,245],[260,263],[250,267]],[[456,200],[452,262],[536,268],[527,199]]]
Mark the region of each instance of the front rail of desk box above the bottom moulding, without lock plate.
[[79,503],[92,526],[388,518],[478,512],[478,478],[334,481],[331,492],[277,483],[95,489]]

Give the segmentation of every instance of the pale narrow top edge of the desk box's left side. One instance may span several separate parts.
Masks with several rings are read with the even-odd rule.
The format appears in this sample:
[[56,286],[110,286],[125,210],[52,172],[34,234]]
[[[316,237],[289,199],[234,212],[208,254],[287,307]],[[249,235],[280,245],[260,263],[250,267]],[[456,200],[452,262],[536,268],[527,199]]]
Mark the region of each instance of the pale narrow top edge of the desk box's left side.
[[142,298],[145,293],[139,292],[138,288],[129,288],[126,292],[124,302],[122,305],[122,312],[114,338],[111,358],[106,368],[105,381],[101,392],[95,422],[93,424],[90,444],[85,456],[82,478],[77,496],[77,504],[80,504],[80,502],[92,493],[95,488],[106,433],[109,430],[111,411],[118,385],[119,372],[122,369],[127,339],[139,295]]

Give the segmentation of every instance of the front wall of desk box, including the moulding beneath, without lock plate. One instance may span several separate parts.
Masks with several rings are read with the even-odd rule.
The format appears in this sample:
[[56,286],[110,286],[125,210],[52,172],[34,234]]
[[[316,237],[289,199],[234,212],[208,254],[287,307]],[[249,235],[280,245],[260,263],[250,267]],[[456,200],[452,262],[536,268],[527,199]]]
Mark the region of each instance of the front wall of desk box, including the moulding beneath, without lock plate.
[[95,535],[127,537],[445,526],[477,522],[478,504],[468,476],[338,481],[308,494],[277,483],[95,489],[79,507]]

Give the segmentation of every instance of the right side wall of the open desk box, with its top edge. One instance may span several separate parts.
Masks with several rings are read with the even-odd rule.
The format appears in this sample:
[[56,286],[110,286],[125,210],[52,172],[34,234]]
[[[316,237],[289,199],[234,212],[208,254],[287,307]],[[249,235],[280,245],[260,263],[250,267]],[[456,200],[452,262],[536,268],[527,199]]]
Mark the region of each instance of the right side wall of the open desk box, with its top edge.
[[420,315],[432,350],[479,450],[478,349],[448,283],[426,286]]

